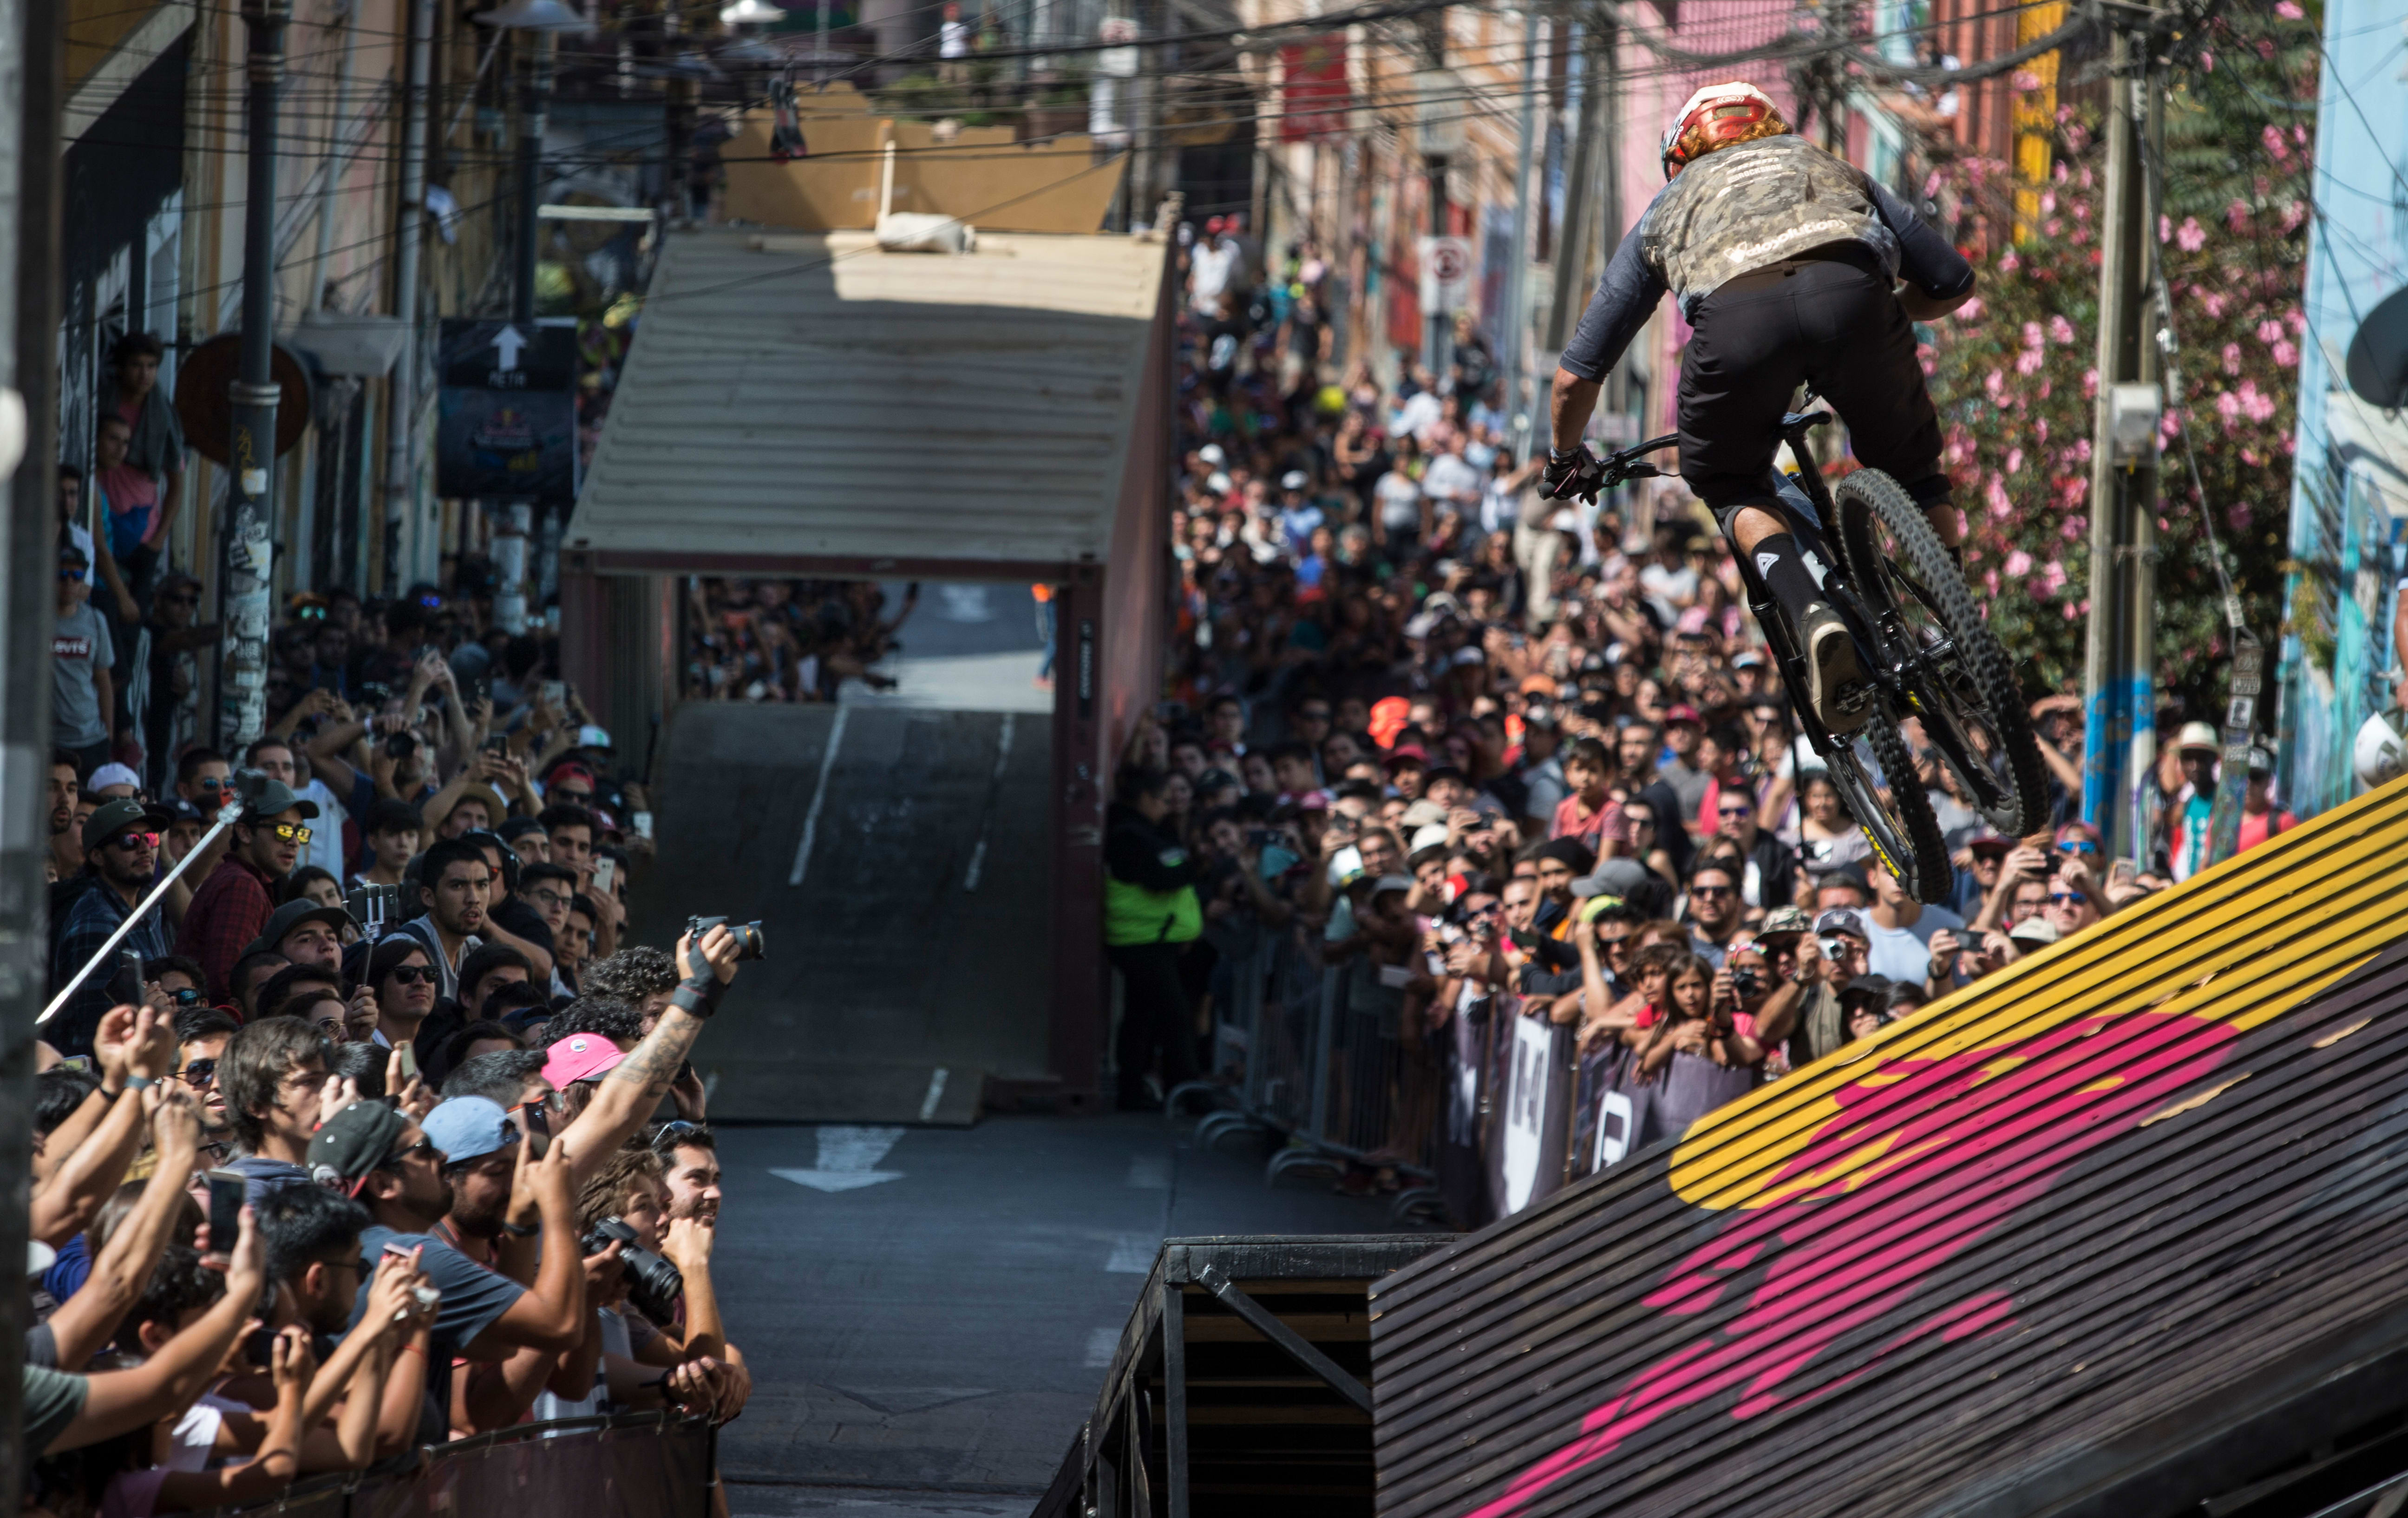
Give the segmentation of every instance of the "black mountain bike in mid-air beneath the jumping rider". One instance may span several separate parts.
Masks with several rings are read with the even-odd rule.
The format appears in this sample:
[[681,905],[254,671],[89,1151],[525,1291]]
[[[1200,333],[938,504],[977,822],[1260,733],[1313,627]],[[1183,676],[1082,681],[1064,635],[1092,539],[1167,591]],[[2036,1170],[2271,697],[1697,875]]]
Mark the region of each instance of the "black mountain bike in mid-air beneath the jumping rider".
[[[1782,417],[1782,439],[1799,470],[1772,475],[1772,484],[1799,549],[1830,569],[1823,595],[1857,636],[1859,663],[1871,677],[1857,699],[1873,711],[1852,737],[1832,735],[1799,696],[1811,684],[1796,631],[1748,554],[1734,557],[1748,612],[1765,629],[1789,706],[1840,800],[1907,896],[1938,904],[1955,884],[1955,867],[1905,725],[1922,728],[1965,802],[2008,839],[2035,831],[2047,817],[2047,771],[2015,670],[1922,506],[1881,470],[1857,470],[1828,487],[1806,448],[1806,434],[1825,422],[1830,412]],[[1640,455],[1678,441],[1662,436],[1604,455],[1597,489],[1662,475]],[[1582,494],[1589,494],[1587,482]]]

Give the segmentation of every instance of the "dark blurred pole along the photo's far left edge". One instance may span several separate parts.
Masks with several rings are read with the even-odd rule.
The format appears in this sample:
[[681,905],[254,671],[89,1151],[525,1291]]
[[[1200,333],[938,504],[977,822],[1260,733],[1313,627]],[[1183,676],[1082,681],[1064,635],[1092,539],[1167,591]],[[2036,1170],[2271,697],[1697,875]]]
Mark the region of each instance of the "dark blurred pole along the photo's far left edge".
[[[65,104],[67,7],[0,0],[0,405],[17,402],[24,458],[10,482],[7,559],[0,559],[0,1258],[26,1255],[34,1171],[34,1017],[48,978],[48,892],[41,855],[51,829],[36,764],[51,752],[51,631],[58,624],[58,113]],[[0,460],[10,475],[12,460]],[[22,1364],[24,1292],[0,1306],[0,1340]],[[24,1376],[0,1366],[0,1426],[24,1429]],[[0,1501],[19,1504],[24,1438],[0,1441]]]

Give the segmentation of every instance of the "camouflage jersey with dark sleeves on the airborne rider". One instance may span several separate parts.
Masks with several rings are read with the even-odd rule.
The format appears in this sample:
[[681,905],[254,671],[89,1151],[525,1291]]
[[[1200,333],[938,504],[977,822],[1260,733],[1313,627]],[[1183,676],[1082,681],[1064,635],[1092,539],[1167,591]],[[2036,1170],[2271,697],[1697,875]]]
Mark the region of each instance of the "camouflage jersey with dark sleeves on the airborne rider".
[[1657,190],[1606,263],[1563,366],[1604,378],[1664,294],[1695,320],[1724,280],[1828,243],[1861,243],[1885,275],[1934,296],[1972,287],[1972,265],[1878,181],[1796,135],[1717,149]]

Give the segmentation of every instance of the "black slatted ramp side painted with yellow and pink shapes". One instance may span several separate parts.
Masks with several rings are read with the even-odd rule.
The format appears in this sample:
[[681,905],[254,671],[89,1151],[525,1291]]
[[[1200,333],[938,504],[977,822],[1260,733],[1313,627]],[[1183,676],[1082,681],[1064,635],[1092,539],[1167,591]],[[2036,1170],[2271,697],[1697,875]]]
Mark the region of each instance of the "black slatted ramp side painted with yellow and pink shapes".
[[2408,1407],[2403,865],[2396,783],[1397,1272],[1380,1513],[2131,1518]]

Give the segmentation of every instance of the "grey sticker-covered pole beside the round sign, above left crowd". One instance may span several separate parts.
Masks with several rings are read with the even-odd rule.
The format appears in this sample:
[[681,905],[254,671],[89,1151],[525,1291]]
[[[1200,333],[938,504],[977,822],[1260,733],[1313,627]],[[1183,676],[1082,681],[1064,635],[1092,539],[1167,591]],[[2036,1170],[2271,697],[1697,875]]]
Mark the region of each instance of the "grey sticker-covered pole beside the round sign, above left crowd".
[[267,723],[267,612],[277,477],[277,99],[291,0],[243,0],[248,41],[248,183],[243,188],[243,347],[234,378],[226,513],[226,653],[217,665],[217,737],[238,749]]

